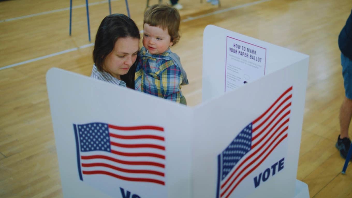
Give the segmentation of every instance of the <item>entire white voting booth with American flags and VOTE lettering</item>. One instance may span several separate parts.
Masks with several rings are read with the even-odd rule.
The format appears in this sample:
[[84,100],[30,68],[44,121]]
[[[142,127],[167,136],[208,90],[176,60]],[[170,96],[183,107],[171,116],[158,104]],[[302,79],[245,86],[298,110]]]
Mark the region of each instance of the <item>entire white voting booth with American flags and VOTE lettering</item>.
[[308,198],[296,180],[308,62],[209,25],[194,107],[50,69],[64,197]]

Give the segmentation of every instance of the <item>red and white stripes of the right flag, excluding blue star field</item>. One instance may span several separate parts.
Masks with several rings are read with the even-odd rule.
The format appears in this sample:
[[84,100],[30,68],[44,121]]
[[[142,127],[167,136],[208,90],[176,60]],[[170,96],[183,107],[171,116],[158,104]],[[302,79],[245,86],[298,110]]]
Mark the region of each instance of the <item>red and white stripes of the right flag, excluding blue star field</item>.
[[261,116],[252,122],[251,150],[222,180],[220,197],[229,197],[235,188],[253,172],[288,136],[292,87],[288,88]]

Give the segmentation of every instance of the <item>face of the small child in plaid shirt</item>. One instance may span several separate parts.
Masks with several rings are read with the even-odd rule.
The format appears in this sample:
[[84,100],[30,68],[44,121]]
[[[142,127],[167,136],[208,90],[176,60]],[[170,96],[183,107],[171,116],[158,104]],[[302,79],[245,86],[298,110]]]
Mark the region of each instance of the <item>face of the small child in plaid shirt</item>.
[[172,45],[168,29],[144,24],[143,46],[150,54],[162,54]]

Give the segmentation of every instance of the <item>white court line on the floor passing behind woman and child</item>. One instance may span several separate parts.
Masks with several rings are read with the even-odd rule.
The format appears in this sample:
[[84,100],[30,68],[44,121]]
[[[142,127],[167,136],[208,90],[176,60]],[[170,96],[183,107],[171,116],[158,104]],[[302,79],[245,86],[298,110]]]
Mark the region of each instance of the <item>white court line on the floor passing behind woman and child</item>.
[[[186,21],[190,21],[190,20],[195,20],[195,19],[200,19],[200,18],[212,16],[212,15],[219,14],[219,13],[224,13],[224,12],[228,12],[228,11],[231,11],[231,10],[236,10],[236,9],[243,8],[243,7],[248,7],[248,6],[251,6],[251,5],[260,4],[260,3],[263,3],[263,2],[266,2],[266,1],[271,1],[271,0],[254,1],[254,2],[251,2],[251,3],[248,3],[248,4],[243,4],[243,5],[239,5],[239,6],[234,6],[234,7],[226,8],[226,9],[224,9],[224,10],[219,10],[219,11],[215,11],[215,12],[212,12],[212,13],[208,13],[208,14],[202,14],[202,15],[197,16],[197,17],[189,17],[189,18],[187,18],[187,19],[182,20],[182,22],[186,22]],[[141,31],[139,31],[139,32],[140,32],[140,33],[143,33],[143,30],[141,30]],[[0,67],[0,70],[2,70],[2,69],[7,69],[7,68],[11,68],[11,67],[15,67],[15,66],[19,66],[19,65],[22,65],[22,64],[26,64],[26,63],[31,63],[31,62],[34,62],[34,61],[39,61],[39,60],[42,60],[42,59],[44,59],[44,58],[49,58],[49,57],[52,57],[52,56],[57,56],[57,55],[60,55],[60,54],[65,54],[65,53],[67,53],[67,52],[75,51],[75,50],[82,49],[82,48],[87,48],[87,47],[90,47],[90,46],[93,46],[93,45],[94,45],[94,43],[90,43],[90,44],[87,44],[87,45],[82,45],[82,46],[80,46],[80,47],[78,47],[78,48],[71,48],[71,49],[68,49],[68,50],[59,51],[59,52],[56,52],[56,53],[54,53],[54,54],[49,54],[49,55],[41,56],[41,57],[38,57],[38,58],[33,58],[33,59],[31,59],[31,60],[27,60],[27,61],[23,61],[23,62],[11,64],[11,65],[8,65],[8,66]]]

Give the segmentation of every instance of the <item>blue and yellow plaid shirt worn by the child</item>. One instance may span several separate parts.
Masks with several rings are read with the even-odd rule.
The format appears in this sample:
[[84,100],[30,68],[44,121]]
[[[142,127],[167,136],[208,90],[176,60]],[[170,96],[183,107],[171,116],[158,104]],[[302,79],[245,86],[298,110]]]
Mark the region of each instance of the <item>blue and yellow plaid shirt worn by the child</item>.
[[[135,89],[161,98],[180,103],[181,85],[187,85],[187,75],[169,55],[168,49],[162,54],[150,54],[144,47],[140,49],[140,59],[134,76]],[[178,57],[176,55],[176,57]],[[180,62],[180,60],[178,60]],[[184,76],[186,78],[184,79]],[[187,83],[182,83],[182,82]],[[184,99],[185,100],[185,99]]]

